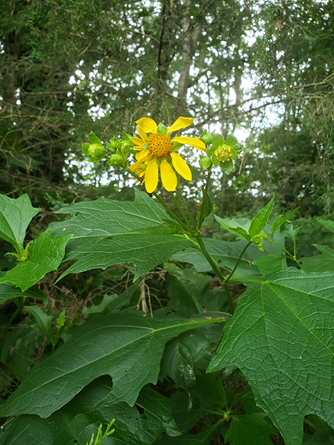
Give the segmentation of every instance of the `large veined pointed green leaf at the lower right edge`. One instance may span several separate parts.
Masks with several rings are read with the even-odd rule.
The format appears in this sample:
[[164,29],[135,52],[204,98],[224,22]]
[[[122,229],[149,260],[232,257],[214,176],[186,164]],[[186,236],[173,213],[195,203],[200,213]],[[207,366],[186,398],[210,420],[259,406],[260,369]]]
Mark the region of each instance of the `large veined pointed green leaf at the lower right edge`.
[[289,268],[245,280],[208,371],[235,364],[286,445],[300,445],[305,414],[334,425],[334,274]]

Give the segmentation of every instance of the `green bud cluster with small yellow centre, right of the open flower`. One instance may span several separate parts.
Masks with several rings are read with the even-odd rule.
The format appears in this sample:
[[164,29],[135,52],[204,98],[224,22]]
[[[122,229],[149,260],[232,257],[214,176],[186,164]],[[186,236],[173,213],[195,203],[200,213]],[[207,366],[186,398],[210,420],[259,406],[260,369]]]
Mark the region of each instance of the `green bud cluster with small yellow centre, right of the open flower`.
[[207,156],[200,156],[200,167],[209,170],[214,166],[220,167],[224,173],[232,172],[233,161],[242,150],[237,145],[237,138],[230,134],[225,140],[221,134],[207,133],[205,130],[200,139],[207,146],[205,149]]

